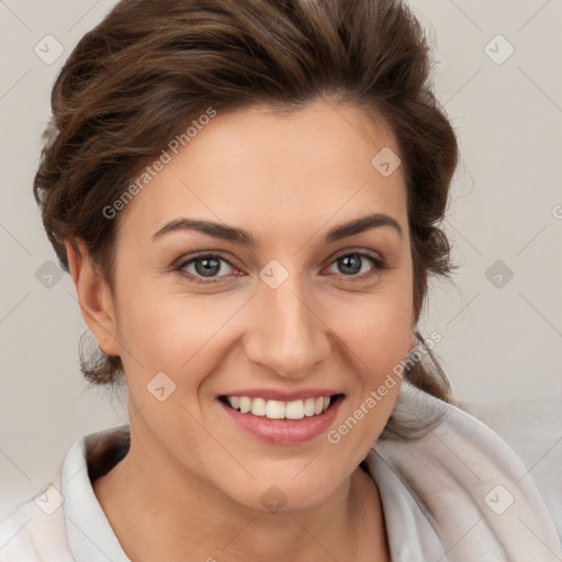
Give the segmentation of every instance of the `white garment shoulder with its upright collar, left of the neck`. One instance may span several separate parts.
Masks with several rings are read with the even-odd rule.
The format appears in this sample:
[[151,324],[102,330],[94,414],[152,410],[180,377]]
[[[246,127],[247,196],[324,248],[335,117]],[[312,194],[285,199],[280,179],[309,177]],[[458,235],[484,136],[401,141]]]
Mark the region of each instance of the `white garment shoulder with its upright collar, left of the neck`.
[[91,485],[126,454],[128,437],[120,424],[77,439],[50,483],[0,522],[0,562],[97,560],[95,544],[108,560],[128,560]]

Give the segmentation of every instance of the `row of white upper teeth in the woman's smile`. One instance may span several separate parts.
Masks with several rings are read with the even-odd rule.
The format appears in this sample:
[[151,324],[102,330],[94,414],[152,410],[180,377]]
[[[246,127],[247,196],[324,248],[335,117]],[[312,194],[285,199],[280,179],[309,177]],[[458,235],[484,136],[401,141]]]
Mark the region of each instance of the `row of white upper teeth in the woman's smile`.
[[279,400],[249,398],[248,396],[226,396],[228,404],[241,414],[251,413],[254,416],[269,419],[302,419],[317,416],[326,412],[329,406],[329,396],[317,398],[295,400],[281,402]]

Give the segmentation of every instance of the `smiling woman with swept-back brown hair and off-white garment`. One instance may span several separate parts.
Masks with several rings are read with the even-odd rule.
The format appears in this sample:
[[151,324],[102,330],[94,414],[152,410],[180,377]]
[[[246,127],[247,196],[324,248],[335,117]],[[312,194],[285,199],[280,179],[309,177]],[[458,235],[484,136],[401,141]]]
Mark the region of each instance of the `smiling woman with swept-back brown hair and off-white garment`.
[[0,560],[560,560],[560,494],[417,330],[458,157],[428,72],[392,0],[123,0],[80,41],[34,192],[130,419]]

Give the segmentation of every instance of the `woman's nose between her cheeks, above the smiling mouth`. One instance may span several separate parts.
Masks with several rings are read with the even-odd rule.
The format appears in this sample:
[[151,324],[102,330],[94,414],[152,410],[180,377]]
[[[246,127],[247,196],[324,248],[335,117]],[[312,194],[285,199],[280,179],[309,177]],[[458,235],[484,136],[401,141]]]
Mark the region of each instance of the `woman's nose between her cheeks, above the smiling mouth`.
[[326,360],[330,338],[318,305],[292,278],[277,289],[259,283],[247,311],[245,350],[263,369],[301,378]]

